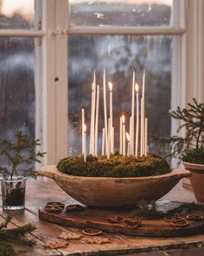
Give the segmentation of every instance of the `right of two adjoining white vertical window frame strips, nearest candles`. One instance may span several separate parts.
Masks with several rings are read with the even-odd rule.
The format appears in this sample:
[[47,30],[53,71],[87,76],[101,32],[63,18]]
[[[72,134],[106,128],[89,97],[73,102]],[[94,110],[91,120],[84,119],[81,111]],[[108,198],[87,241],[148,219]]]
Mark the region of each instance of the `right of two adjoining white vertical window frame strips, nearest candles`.
[[56,0],[56,160],[67,156],[67,25],[68,4]]

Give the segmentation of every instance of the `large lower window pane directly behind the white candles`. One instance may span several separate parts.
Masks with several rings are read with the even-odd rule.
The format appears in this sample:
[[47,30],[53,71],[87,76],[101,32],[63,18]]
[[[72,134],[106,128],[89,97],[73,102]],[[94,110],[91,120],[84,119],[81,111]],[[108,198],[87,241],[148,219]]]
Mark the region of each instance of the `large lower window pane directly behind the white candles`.
[[[69,153],[81,153],[81,108],[85,108],[86,111],[87,134],[89,134],[93,69],[96,69],[97,84],[101,86],[99,152],[101,152],[101,130],[104,126],[102,99],[104,68],[106,82],[113,83],[115,150],[118,150],[119,116],[123,113],[129,129],[133,68],[136,69],[140,93],[143,69],[146,70],[145,107],[149,115],[149,141],[153,135],[169,136],[171,59],[172,36],[69,36]],[[155,150],[156,143],[150,142],[150,151]]]

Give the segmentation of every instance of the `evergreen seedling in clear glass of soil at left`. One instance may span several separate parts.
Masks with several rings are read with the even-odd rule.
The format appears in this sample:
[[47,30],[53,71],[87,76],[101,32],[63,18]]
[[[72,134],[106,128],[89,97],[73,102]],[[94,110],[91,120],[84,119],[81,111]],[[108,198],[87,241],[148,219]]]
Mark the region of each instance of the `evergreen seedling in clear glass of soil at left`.
[[21,210],[24,208],[26,177],[35,176],[35,161],[41,162],[44,153],[36,152],[39,140],[29,140],[28,135],[16,131],[15,141],[0,140],[0,172],[3,174],[2,199],[4,210]]

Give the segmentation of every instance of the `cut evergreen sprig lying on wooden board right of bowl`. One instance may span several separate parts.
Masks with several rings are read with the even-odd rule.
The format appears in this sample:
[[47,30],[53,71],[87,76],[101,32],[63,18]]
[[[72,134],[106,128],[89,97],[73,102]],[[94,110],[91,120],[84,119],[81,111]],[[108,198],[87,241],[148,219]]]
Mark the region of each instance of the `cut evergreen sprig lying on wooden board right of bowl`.
[[188,212],[190,212],[191,210],[195,209],[195,207],[196,206],[194,203],[183,203],[181,206],[169,209],[164,213],[158,210],[155,200],[151,200],[150,202],[146,200],[140,200],[137,203],[137,209],[132,213],[138,217],[163,218],[173,216],[176,213],[182,213],[184,210],[188,210]]

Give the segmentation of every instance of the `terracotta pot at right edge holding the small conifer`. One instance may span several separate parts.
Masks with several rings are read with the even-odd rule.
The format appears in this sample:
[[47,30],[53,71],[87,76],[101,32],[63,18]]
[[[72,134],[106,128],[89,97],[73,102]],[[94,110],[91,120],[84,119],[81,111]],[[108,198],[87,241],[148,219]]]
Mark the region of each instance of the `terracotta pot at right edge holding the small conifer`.
[[204,165],[183,161],[184,167],[192,173],[190,181],[194,196],[198,202],[204,203]]

